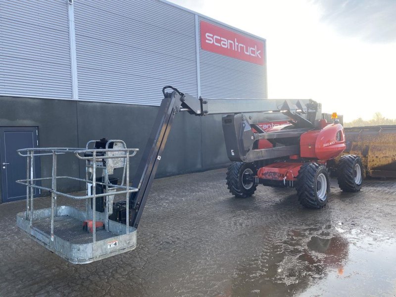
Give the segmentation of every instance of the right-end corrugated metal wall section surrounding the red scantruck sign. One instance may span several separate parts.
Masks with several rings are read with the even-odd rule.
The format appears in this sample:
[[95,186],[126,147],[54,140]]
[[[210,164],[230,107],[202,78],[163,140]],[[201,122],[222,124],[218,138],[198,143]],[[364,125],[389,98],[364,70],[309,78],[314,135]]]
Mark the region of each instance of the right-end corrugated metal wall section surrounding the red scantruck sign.
[[[211,19],[199,17],[199,21],[240,33],[247,37],[257,37],[246,32],[229,28]],[[199,28],[199,68],[201,96],[209,99],[257,99],[267,98],[266,90],[266,56],[264,66],[239,60],[229,56],[201,49]],[[264,42],[264,49],[266,41]]]

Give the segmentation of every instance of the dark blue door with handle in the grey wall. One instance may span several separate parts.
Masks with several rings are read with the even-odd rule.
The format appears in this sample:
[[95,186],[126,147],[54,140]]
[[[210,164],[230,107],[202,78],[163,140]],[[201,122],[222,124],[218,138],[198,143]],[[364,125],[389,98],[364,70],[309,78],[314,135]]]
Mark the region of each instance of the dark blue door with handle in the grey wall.
[[[26,179],[26,157],[16,152],[20,148],[38,147],[37,127],[0,127],[1,197],[3,202],[26,198],[26,187],[16,180]],[[34,158],[34,177],[40,178],[40,159]],[[35,196],[39,191],[35,189]]]

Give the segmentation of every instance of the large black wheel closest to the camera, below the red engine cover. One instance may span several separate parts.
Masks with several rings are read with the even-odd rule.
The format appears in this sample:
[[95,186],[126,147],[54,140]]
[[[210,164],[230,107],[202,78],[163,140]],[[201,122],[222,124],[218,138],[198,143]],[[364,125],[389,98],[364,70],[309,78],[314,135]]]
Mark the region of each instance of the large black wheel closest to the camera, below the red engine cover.
[[302,164],[298,171],[296,190],[298,201],[303,206],[312,209],[323,208],[330,195],[327,168],[313,162]]

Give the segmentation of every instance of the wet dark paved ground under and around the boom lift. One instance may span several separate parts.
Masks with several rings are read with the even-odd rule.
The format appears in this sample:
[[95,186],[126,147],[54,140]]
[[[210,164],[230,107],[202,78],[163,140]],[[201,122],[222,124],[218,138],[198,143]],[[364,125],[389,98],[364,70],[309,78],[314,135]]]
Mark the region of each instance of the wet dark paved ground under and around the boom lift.
[[138,247],[84,265],[17,229],[24,201],[0,204],[0,296],[396,296],[396,181],[345,194],[333,179],[328,205],[309,210],[294,189],[234,198],[224,179],[155,180]]

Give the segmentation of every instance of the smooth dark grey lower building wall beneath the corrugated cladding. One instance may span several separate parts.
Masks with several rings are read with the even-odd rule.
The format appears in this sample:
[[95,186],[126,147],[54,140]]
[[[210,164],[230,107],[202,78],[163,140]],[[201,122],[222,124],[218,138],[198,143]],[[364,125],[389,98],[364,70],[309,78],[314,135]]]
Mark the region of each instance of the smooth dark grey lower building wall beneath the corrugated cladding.
[[[0,97],[0,106],[0,126],[38,126],[40,147],[79,148],[85,147],[89,140],[107,137],[122,139],[129,148],[139,148],[141,151],[131,158],[131,177],[135,176],[158,111],[157,106],[18,97]],[[178,114],[156,177],[226,166],[227,157],[219,158],[219,155],[226,156],[222,131],[219,134],[218,129],[210,129],[213,124],[218,126],[216,121],[213,115],[202,118]],[[214,142],[202,142],[202,133]],[[41,157],[42,177],[51,175],[51,162],[50,157]],[[76,157],[59,156],[57,164],[58,175],[85,178],[85,164]],[[73,182],[58,182],[57,186],[61,191],[80,189],[80,185]]]

